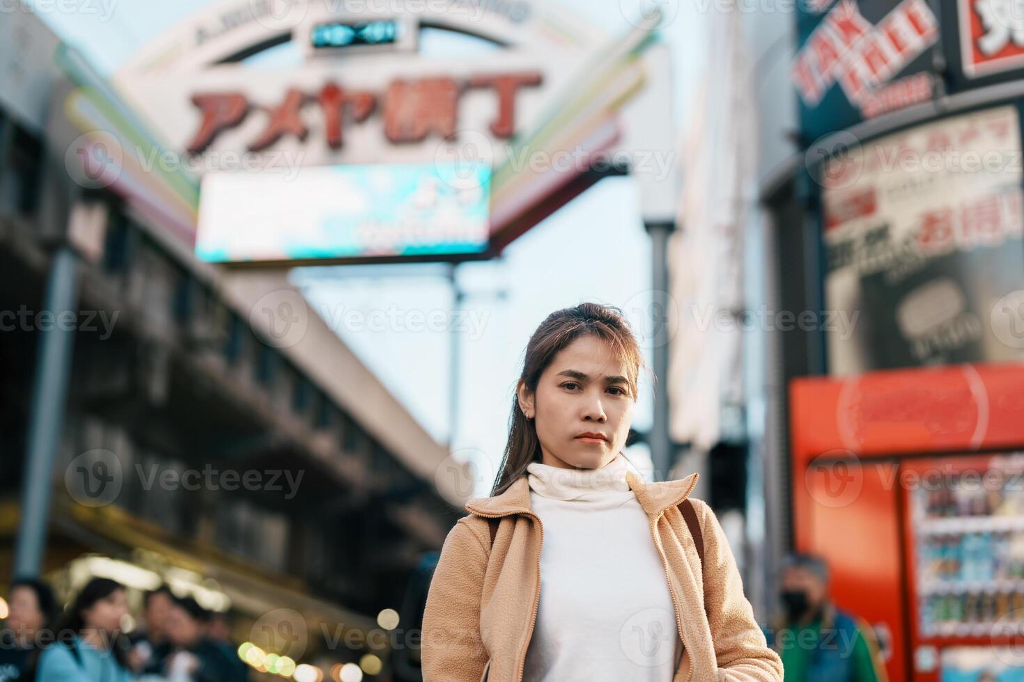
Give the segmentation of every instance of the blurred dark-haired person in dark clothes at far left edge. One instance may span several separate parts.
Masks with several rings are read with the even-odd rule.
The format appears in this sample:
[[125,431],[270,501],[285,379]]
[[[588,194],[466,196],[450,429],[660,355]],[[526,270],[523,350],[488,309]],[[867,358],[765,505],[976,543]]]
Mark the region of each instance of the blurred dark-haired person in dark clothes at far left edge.
[[53,590],[34,578],[19,578],[10,585],[9,611],[0,630],[0,682],[32,679],[30,660],[38,637],[56,612]]

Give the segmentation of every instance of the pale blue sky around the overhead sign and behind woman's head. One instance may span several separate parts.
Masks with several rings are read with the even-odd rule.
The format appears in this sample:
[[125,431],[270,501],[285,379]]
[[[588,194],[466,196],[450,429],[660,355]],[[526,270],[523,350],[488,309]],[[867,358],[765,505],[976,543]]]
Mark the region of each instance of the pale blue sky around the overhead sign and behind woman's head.
[[[104,74],[113,74],[146,41],[208,4],[208,0],[68,0],[80,11],[32,0],[61,38]],[[672,18],[663,35],[673,51],[680,137],[701,54],[701,22],[690,3],[674,0],[560,0],[611,35],[625,34],[642,4],[658,2]],[[49,9],[48,9],[49,8]],[[687,14],[687,12],[691,12]],[[649,303],[650,241],[640,220],[637,190],[628,178],[601,181],[509,245],[503,257],[467,263],[456,276],[463,313],[449,316],[460,335],[461,409],[453,450],[496,466],[507,437],[512,395],[530,333],[551,312],[585,301],[615,305],[635,325]],[[451,311],[446,266],[301,269],[292,279],[314,310],[329,311],[336,331],[440,443],[450,442],[450,329],[375,331],[346,323],[344,311]],[[383,274],[382,274],[383,273]],[[348,318],[351,319],[351,318]],[[329,320],[330,322],[330,320]],[[647,357],[648,363],[650,357]],[[641,385],[634,427],[650,426],[650,387]],[[629,453],[646,457],[643,448]],[[478,494],[486,494],[479,491]]]

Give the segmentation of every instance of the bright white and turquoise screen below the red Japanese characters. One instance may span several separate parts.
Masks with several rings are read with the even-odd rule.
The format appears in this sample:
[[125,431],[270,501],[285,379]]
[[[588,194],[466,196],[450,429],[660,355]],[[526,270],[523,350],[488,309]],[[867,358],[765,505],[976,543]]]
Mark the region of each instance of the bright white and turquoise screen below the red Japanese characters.
[[265,265],[468,255],[487,246],[487,166],[314,166],[297,177],[207,175],[197,256]]

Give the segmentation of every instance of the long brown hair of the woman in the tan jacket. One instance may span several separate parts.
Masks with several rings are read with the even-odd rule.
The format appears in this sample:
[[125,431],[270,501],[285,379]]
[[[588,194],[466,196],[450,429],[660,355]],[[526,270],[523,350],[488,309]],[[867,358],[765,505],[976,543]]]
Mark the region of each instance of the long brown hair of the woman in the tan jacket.
[[555,356],[581,336],[597,336],[609,344],[612,353],[626,365],[627,379],[633,400],[637,399],[640,368],[644,366],[637,343],[623,311],[614,306],[583,303],[548,315],[526,344],[522,374],[512,393],[512,414],[509,417],[509,440],[499,466],[492,495],[499,495],[526,471],[530,462],[541,461],[541,442],[536,423],[519,409],[518,384],[522,381],[530,393],[537,391],[541,374]]

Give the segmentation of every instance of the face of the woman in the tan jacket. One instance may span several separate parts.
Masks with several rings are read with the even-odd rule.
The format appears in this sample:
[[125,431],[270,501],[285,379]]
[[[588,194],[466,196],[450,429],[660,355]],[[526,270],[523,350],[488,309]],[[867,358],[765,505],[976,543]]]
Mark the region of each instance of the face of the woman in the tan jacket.
[[[562,349],[529,394],[520,381],[519,407],[534,415],[543,462],[563,468],[600,468],[626,445],[633,421],[630,368],[593,334]],[[586,439],[592,431],[603,439]]]

